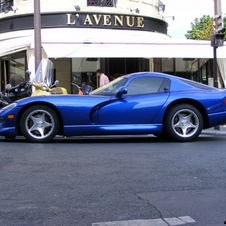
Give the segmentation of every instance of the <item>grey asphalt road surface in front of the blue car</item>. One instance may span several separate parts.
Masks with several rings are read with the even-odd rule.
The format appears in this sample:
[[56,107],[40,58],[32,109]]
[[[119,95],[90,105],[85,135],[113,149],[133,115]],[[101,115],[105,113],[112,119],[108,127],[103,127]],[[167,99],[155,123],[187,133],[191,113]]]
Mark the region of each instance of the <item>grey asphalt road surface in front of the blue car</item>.
[[0,225],[224,225],[225,147],[217,134],[191,143],[0,137]]

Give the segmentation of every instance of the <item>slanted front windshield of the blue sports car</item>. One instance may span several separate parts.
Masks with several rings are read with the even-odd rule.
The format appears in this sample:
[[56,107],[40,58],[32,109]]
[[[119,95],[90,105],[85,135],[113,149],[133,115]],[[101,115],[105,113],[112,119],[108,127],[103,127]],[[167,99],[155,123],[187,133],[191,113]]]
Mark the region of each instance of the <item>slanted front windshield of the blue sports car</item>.
[[89,95],[103,95],[103,96],[113,96],[116,95],[120,87],[124,86],[127,81],[125,77],[119,77],[110,83],[95,89],[90,92]]

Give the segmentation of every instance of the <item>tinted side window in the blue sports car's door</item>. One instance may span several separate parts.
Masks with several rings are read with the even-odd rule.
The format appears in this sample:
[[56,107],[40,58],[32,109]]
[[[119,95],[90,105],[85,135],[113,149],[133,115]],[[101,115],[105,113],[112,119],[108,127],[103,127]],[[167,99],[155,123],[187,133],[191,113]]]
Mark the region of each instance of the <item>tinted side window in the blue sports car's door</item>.
[[[136,78],[129,83],[127,87],[127,95],[140,95],[163,92],[165,88],[163,88],[162,85],[164,83],[166,83],[166,81],[164,78],[161,77]],[[169,87],[167,87],[167,89],[169,89]]]

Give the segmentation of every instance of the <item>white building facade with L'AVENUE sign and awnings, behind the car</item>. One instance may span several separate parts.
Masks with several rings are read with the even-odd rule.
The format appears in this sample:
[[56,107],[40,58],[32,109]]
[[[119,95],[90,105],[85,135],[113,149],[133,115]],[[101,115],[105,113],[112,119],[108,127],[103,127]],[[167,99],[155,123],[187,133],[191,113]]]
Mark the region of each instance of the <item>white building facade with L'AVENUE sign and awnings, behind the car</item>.
[[[208,84],[213,49],[209,41],[174,40],[160,0],[40,0],[42,57],[54,62],[56,79],[69,93],[72,75],[91,78],[161,71]],[[13,74],[35,71],[34,0],[1,0],[1,90]],[[225,74],[225,46],[218,48]],[[81,81],[80,81],[81,82]],[[221,87],[226,80],[220,79]]]

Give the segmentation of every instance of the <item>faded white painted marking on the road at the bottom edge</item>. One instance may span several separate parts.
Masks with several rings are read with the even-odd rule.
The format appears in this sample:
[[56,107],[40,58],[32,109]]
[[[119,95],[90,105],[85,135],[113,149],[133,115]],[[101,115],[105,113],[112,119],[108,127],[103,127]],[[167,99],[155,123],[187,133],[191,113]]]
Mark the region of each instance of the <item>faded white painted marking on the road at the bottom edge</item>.
[[150,220],[108,221],[93,223],[92,226],[169,226],[191,224],[196,221],[189,216],[159,218]]

